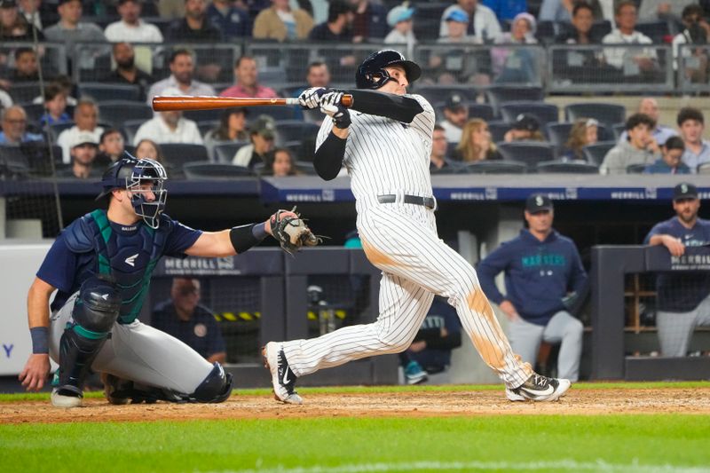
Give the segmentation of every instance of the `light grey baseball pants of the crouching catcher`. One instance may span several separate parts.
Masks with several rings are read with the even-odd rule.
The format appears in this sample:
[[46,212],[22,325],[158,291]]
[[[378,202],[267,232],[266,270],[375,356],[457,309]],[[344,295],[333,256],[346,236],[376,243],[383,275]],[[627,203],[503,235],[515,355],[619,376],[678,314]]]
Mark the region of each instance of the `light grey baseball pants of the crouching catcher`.
[[[51,316],[50,356],[58,363],[59,340],[67,322],[73,321],[76,294]],[[185,343],[138,319],[126,325],[115,323],[91,365],[94,371],[183,394],[192,394],[212,368]]]

